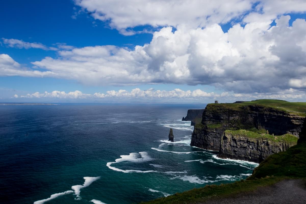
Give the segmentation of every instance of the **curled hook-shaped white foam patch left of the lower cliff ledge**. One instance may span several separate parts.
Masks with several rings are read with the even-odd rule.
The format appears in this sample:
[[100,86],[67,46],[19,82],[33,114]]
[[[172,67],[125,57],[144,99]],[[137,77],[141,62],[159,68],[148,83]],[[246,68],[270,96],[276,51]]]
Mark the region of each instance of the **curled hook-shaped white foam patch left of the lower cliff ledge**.
[[[141,156],[139,158],[139,155]],[[139,152],[139,153],[130,153],[129,155],[120,155],[121,158],[116,159],[114,162],[107,162],[106,166],[114,171],[119,171],[123,173],[131,173],[131,172],[136,172],[136,173],[148,173],[148,172],[157,172],[153,170],[148,170],[148,171],[141,171],[141,170],[123,170],[123,169],[118,169],[116,167],[111,166],[112,164],[115,163],[120,163],[122,161],[130,161],[130,162],[144,162],[144,161],[151,161],[152,158],[148,155],[147,152]]]

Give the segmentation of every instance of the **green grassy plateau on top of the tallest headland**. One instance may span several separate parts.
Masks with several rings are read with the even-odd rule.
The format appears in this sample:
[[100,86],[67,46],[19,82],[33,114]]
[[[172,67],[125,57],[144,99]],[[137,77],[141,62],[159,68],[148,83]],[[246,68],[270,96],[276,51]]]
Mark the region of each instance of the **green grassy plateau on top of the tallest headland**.
[[258,105],[279,109],[293,115],[298,115],[302,117],[306,116],[306,102],[288,102],[282,100],[260,99],[242,103],[210,103],[208,105],[211,107],[226,106],[234,110],[239,110],[242,106]]

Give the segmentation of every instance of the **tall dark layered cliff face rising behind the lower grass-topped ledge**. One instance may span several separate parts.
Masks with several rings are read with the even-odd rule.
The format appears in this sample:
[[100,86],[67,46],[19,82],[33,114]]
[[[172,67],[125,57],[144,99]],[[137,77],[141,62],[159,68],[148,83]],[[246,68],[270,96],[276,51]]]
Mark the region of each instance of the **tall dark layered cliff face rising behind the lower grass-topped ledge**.
[[265,129],[269,134],[296,135],[304,117],[289,114],[280,109],[261,105],[208,104],[203,112],[202,123],[195,126],[191,146],[207,150],[220,150],[225,130]]

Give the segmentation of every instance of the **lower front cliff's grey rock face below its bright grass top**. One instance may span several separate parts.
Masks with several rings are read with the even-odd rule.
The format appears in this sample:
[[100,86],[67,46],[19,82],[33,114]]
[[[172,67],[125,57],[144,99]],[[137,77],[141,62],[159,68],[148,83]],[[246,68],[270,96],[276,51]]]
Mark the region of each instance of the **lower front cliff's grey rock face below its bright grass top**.
[[226,131],[221,138],[221,149],[218,157],[260,163],[271,154],[285,151],[296,145],[296,140],[274,141],[273,139],[251,138]]

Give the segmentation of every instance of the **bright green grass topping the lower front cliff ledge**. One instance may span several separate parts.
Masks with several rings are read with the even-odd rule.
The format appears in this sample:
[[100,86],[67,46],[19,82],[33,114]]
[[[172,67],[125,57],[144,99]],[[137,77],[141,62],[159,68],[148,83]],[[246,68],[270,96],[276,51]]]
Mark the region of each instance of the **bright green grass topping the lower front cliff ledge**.
[[284,143],[297,143],[297,137],[290,134],[273,136],[265,133],[257,133],[248,130],[226,130],[225,134],[231,134],[234,136],[248,137],[248,138],[263,138],[273,142],[284,142]]

